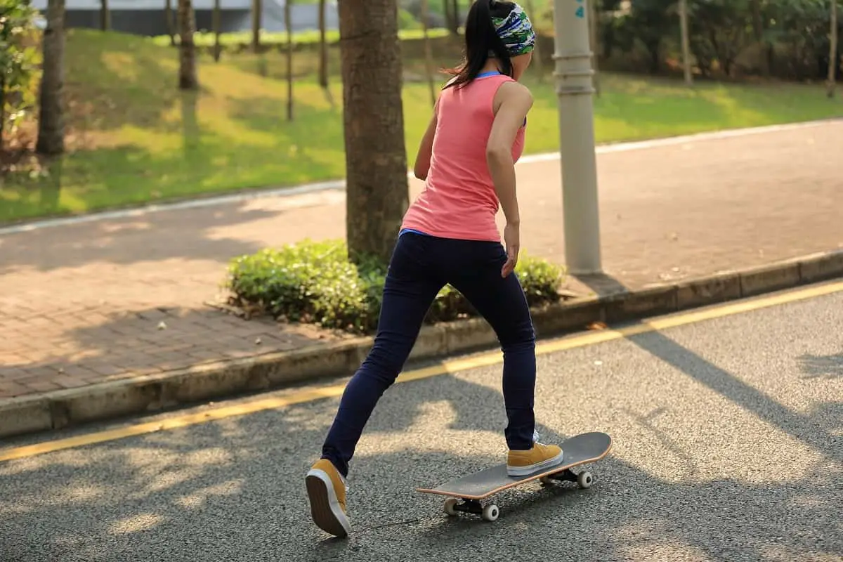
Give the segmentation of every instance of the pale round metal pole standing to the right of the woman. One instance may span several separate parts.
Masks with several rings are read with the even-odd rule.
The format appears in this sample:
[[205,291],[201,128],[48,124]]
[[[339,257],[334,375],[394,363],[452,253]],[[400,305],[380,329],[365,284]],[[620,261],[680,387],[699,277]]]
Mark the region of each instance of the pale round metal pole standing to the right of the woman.
[[565,260],[574,275],[602,273],[594,153],[593,68],[587,0],[554,0],[556,95]]

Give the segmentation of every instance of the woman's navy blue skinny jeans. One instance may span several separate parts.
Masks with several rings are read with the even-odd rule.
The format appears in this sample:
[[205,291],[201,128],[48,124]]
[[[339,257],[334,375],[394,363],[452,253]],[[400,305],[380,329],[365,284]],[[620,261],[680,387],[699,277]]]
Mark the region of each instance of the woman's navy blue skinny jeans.
[[506,260],[506,251],[497,242],[401,233],[389,261],[372,351],[346,386],[322,448],[322,458],[334,463],[343,476],[348,475],[348,463],[375,404],[395,383],[433,298],[448,283],[486,318],[501,343],[507,446],[513,450],[533,446],[533,320],[518,277],[501,276]]

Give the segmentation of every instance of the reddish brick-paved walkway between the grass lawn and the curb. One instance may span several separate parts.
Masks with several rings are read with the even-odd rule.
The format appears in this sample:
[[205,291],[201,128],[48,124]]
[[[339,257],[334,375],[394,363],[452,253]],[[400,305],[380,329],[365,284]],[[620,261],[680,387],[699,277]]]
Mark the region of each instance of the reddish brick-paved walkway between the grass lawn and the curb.
[[[601,154],[607,275],[645,286],[843,247],[841,147],[838,121]],[[518,180],[525,249],[563,261],[559,163]],[[344,221],[325,191],[0,236],[0,399],[336,337],[204,303],[232,257]]]

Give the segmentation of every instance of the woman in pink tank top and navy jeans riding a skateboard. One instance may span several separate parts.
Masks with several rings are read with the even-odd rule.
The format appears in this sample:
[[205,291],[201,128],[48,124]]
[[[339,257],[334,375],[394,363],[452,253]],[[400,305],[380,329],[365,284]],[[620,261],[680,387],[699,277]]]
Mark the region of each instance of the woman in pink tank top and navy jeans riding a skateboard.
[[[305,483],[316,525],[351,532],[346,477],[357,441],[384,391],[395,382],[434,297],[454,286],[491,324],[503,351],[507,473],[561,463],[557,446],[536,442],[535,335],[513,270],[521,217],[514,163],[524,149],[529,89],[518,80],[535,33],[518,4],[477,0],[465,22],[465,59],[443,88],[421,139],[415,174],[425,190],[405,214],[384,285],[372,351],[349,381],[322,455]],[[495,216],[506,217],[503,242]]]

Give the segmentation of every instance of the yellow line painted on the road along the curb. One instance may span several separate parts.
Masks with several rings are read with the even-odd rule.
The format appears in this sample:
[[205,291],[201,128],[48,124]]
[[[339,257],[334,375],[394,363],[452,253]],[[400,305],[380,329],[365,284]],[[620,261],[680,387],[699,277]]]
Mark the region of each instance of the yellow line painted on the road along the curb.
[[[802,301],[808,298],[822,297],[835,292],[843,292],[843,281],[820,286],[811,286],[805,289],[798,289],[785,292],[771,297],[760,297],[749,301],[739,301],[722,306],[706,308],[689,313],[674,313],[662,318],[653,318],[642,324],[634,324],[620,329],[604,329],[587,334],[568,336],[556,340],[547,340],[536,345],[537,355],[547,355],[557,351],[570,350],[586,345],[604,343],[611,340],[620,340],[631,335],[646,334],[662,329],[675,328],[685,324],[694,324],[704,320],[723,318],[733,314],[746,313],[760,308],[769,308],[788,302]],[[409,383],[424,378],[437,377],[448,373],[466,371],[478,367],[490,367],[502,362],[500,351],[493,351],[478,356],[464,359],[441,361],[431,367],[423,367],[414,371],[404,372],[398,377],[396,383]],[[56,441],[42,442],[24,447],[13,447],[5,450],[0,449],[0,462],[10,461],[16,458],[35,457],[47,452],[62,451],[74,447],[83,447],[94,443],[110,442],[124,439],[131,436],[139,436],[155,431],[168,431],[180,427],[195,426],[212,420],[223,420],[237,415],[249,415],[266,409],[277,409],[293,404],[314,402],[319,399],[336,398],[342,394],[345,383],[335,384],[323,388],[314,388],[293,392],[285,396],[274,398],[255,399],[250,402],[221,406],[208,409],[198,414],[176,415],[159,421],[150,421],[134,426],[118,427],[108,431],[98,431],[80,436],[58,439]]]

